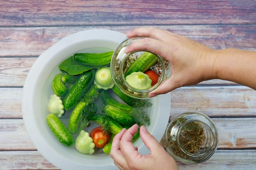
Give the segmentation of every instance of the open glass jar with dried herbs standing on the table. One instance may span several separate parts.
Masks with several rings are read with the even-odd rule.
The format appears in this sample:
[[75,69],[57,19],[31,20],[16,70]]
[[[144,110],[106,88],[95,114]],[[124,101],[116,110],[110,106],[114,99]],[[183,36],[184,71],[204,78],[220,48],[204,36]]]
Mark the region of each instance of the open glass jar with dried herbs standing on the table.
[[162,145],[178,161],[202,163],[218,147],[217,129],[213,121],[202,113],[182,113],[168,124]]

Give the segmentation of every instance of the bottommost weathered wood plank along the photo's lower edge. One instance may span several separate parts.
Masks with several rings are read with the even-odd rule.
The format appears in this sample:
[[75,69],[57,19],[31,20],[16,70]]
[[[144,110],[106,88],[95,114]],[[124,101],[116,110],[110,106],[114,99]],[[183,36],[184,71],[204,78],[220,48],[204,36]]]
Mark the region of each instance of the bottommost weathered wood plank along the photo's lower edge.
[[[177,162],[180,170],[253,170],[255,150],[216,150],[207,161],[195,165]],[[4,170],[58,170],[38,151],[0,151],[0,168]]]

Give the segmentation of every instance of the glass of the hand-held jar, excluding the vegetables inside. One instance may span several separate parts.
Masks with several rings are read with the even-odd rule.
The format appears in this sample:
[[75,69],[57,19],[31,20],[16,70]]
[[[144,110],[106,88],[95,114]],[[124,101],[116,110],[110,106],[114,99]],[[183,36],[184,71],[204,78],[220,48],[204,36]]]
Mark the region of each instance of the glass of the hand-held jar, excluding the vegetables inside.
[[[110,70],[112,74],[113,81],[115,85],[123,92],[124,94],[133,97],[133,98],[139,98],[139,99],[146,99],[148,98],[148,92],[153,91],[156,89],[162,81],[169,78],[171,76],[171,65],[168,61],[160,57],[159,55],[155,54],[155,56],[158,58],[157,62],[150,68],[150,70],[153,70],[158,75],[158,81],[155,85],[150,87],[149,89],[136,89],[132,86],[130,86],[124,77],[124,74],[126,72],[126,68],[129,67],[129,65],[137,60],[139,57],[141,57],[141,54],[144,52],[149,52],[146,50],[140,50],[140,51],[134,51],[126,54],[124,50],[132,43],[133,41],[136,41],[138,39],[143,39],[144,37],[135,37],[135,38],[129,38],[125,39],[115,50],[111,63],[110,63]],[[151,52],[152,53],[152,52]],[[153,53],[152,53],[153,54]]]

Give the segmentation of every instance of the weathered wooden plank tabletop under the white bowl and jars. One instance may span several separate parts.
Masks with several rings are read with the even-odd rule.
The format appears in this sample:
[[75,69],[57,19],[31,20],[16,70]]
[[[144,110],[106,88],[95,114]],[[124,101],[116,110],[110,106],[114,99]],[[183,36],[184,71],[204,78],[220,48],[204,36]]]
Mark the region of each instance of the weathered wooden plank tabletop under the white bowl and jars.
[[[22,120],[22,87],[37,57],[78,31],[126,33],[140,26],[166,29],[215,49],[256,51],[255,0],[1,0],[0,169],[58,169],[36,150]],[[181,170],[256,169],[256,91],[211,80],[170,95],[170,116],[202,112],[219,132],[216,153],[197,165],[178,162]]]

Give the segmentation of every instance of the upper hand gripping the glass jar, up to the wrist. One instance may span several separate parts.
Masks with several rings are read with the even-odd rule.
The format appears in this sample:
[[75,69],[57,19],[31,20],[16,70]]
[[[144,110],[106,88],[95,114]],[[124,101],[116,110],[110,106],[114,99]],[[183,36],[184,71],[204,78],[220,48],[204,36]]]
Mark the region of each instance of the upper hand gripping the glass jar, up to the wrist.
[[126,48],[129,53],[135,50],[148,50],[170,61],[171,78],[148,94],[153,97],[165,94],[184,85],[195,85],[214,78],[213,67],[216,55],[214,50],[186,37],[175,35],[157,28],[136,28],[127,37],[146,37],[134,41]]

